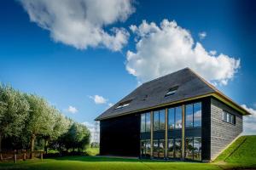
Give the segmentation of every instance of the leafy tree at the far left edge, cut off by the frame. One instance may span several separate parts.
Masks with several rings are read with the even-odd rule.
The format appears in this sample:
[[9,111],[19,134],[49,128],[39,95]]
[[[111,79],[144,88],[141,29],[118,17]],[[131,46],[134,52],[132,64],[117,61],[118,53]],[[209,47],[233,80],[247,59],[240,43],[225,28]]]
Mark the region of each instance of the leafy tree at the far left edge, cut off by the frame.
[[0,84],[0,151],[2,139],[18,136],[28,116],[29,104],[24,94]]

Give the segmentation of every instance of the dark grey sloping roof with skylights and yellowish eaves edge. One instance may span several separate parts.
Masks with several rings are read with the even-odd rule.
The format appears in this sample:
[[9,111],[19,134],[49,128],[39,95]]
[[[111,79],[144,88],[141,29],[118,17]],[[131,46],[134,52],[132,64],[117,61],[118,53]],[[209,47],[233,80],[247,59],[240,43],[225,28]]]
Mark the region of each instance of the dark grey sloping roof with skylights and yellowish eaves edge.
[[[177,91],[172,95],[166,96],[166,93],[172,88],[177,88]],[[217,88],[199,77],[194,71],[185,68],[164,77],[143,83],[140,87],[131,92],[131,94],[125,96],[124,99],[121,99],[107,111],[104,111],[102,115],[96,117],[96,121],[137,111],[146,111],[147,109],[157,106],[213,94],[216,95],[215,97],[229,102],[230,106],[235,106],[241,114],[249,114],[246,110],[241,108],[240,105],[237,105],[219,92]],[[117,109],[119,105],[125,103],[129,103],[129,105]]]

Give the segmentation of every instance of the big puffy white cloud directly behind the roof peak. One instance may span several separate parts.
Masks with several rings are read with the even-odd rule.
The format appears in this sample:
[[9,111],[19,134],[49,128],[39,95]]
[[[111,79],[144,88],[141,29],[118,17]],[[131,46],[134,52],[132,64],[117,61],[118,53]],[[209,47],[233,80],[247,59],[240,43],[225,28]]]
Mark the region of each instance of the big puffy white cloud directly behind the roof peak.
[[125,66],[138,82],[189,67],[207,81],[227,84],[240,67],[240,59],[207,52],[175,21],[163,20],[156,26],[143,20],[140,26],[130,26],[130,29],[137,35],[138,42],[136,52],[127,52]]

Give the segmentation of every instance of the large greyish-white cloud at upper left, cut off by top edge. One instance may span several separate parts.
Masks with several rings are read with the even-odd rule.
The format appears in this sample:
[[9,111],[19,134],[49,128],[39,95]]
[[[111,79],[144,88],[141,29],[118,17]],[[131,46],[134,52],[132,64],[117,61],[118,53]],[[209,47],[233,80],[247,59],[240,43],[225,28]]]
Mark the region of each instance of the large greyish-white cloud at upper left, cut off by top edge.
[[20,0],[30,20],[49,30],[55,42],[75,48],[106,47],[119,51],[129,37],[123,28],[104,27],[125,21],[135,9],[131,0]]

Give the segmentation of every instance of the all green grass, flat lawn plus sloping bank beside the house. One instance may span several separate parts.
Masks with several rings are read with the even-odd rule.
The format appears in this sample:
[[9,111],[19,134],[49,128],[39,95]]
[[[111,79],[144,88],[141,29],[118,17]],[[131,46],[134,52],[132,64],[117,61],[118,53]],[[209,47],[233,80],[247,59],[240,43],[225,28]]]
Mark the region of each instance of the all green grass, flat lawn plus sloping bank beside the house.
[[[97,149],[86,150],[90,155],[96,155]],[[256,136],[242,136],[237,139],[227,150],[218,156],[212,163],[183,162],[183,161],[153,161],[100,156],[67,156],[54,159],[18,161],[0,163],[0,169],[256,169]]]

